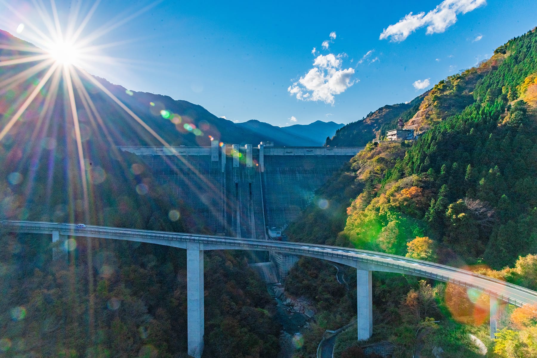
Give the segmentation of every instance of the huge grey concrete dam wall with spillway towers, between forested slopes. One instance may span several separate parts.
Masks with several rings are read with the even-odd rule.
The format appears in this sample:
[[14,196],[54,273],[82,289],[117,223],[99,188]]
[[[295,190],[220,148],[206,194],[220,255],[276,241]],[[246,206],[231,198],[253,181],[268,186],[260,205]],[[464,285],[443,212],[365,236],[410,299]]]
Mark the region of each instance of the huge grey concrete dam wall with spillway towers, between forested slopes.
[[294,221],[315,190],[363,149],[264,143],[119,149],[140,156],[210,233],[255,239]]

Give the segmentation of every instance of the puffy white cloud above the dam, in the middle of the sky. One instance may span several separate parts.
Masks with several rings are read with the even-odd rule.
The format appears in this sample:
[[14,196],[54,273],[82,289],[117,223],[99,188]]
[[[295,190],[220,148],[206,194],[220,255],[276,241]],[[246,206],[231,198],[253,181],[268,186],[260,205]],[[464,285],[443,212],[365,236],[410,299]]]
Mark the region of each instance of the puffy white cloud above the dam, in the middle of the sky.
[[334,104],[334,95],[345,92],[357,80],[352,81],[354,69],[342,69],[342,60],[334,54],[319,55],[313,68],[288,87],[287,91],[297,99],[323,101]]

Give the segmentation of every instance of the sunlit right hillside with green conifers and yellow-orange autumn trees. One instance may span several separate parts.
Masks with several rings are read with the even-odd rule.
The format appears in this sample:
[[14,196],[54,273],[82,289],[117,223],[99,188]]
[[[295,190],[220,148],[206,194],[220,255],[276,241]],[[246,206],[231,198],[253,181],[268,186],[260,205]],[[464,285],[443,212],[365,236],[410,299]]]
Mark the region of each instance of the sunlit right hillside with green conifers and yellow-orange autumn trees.
[[[369,143],[340,173],[339,180],[353,179],[329,203],[335,200],[339,207],[350,200],[346,215],[310,229],[316,221],[311,213],[319,210],[309,209],[310,214],[289,228],[289,235],[304,240],[304,233],[309,233],[315,243],[442,262],[537,288],[533,279],[537,265],[528,255],[537,252],[536,74],[537,33],[532,30],[496,49],[491,59],[476,68],[441,81],[407,119],[409,127],[423,132],[417,141]],[[365,123],[360,126],[365,128]],[[352,140],[353,128],[356,123],[340,129],[334,138]],[[317,193],[320,198],[330,191],[330,184]],[[353,197],[349,188],[363,189]],[[321,213],[319,222],[327,216]],[[314,262],[304,259],[293,270],[307,271],[317,265]],[[333,273],[328,265],[325,270],[310,278],[310,284],[330,282]],[[295,294],[321,304],[321,296],[305,286],[291,283]],[[532,342],[537,328],[531,310],[516,311],[497,339],[490,341],[486,326],[479,328],[488,320],[487,296],[473,297],[451,284],[433,286],[382,273],[374,274],[373,296],[374,327],[381,327],[374,328],[373,339],[394,342],[400,349],[396,356],[411,356],[418,343],[424,345],[422,354],[442,347],[443,357],[473,356],[469,332],[489,345],[490,356],[535,354]],[[407,309],[422,312],[420,318],[410,319],[404,313]],[[351,319],[356,313],[355,308],[328,312],[320,322],[322,328],[337,328],[340,317]],[[427,323],[426,317],[441,323]],[[421,339],[415,334],[419,327],[427,327]],[[311,334],[317,338],[320,333],[322,329],[317,336],[315,330]],[[339,352],[345,350],[343,345]]]

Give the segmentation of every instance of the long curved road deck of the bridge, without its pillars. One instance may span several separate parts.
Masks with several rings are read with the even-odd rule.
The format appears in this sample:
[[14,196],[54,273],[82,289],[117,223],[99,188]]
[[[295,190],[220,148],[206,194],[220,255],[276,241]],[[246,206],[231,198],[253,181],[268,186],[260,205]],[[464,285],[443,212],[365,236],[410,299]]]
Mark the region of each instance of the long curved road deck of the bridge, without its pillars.
[[192,233],[137,230],[32,221],[3,221],[2,228],[10,232],[109,238],[187,248],[187,243],[198,243],[200,250],[263,250],[320,258],[361,270],[396,272],[452,282],[481,291],[504,302],[522,306],[537,304],[537,292],[463,269],[411,259],[387,253],[349,249],[328,245],[279,242],[200,235]]

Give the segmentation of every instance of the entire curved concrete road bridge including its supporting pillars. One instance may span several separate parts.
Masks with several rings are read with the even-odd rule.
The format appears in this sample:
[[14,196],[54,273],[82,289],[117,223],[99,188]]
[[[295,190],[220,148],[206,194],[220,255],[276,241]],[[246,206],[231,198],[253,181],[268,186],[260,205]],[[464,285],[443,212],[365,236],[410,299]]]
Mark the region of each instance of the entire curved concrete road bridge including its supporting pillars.
[[452,282],[481,291],[490,296],[490,335],[494,338],[499,302],[516,306],[537,304],[537,292],[491,277],[445,265],[410,259],[380,252],[347,249],[345,247],[278,242],[248,238],[196,235],[190,233],[150,231],[59,224],[31,221],[3,221],[2,229],[9,232],[52,235],[53,242],[68,236],[129,240],[186,249],[187,267],[187,334],[188,354],[199,358],[204,347],[204,251],[261,250],[309,256],[357,269],[358,340],[371,337],[373,312],[371,272],[384,271]]

